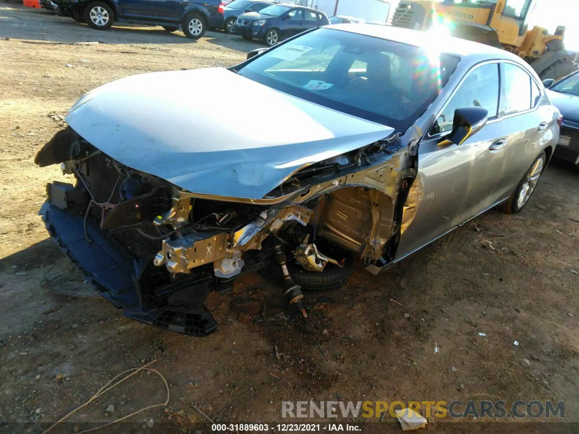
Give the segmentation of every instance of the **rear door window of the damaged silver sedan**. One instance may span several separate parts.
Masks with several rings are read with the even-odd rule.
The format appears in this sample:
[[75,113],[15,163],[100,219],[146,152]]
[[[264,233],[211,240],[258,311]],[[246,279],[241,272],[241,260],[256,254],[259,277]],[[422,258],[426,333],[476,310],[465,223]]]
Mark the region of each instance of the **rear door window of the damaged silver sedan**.
[[500,116],[514,115],[531,108],[531,76],[521,67],[512,63],[502,64],[503,96],[499,109]]

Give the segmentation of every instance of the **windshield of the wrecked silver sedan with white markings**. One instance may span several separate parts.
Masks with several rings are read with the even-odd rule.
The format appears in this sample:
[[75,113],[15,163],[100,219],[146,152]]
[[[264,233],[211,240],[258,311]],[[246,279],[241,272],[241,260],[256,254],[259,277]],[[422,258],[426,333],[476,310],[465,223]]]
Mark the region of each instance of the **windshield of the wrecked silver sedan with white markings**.
[[438,95],[459,59],[320,28],[241,67],[244,77],[303,100],[404,131]]

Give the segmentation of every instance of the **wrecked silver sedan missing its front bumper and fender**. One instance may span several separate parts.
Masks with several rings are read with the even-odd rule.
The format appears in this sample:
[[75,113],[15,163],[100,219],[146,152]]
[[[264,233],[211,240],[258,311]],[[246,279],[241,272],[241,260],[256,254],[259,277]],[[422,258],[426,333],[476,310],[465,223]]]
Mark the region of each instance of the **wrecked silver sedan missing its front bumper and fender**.
[[270,267],[306,317],[302,289],[338,288],[355,259],[378,274],[486,209],[520,211],[558,119],[502,50],[325,27],[90,91],[36,156],[75,178],[49,183],[41,215],[127,317],[206,336],[208,293],[240,274]]

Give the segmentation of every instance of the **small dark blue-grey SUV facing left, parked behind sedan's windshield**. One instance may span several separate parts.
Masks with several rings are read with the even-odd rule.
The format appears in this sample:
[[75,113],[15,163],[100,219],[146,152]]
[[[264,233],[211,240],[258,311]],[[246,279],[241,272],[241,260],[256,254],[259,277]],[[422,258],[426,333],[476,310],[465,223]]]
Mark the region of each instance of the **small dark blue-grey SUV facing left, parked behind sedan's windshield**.
[[241,14],[233,32],[245,39],[261,39],[271,47],[285,38],[327,24],[328,17],[319,10],[282,4]]

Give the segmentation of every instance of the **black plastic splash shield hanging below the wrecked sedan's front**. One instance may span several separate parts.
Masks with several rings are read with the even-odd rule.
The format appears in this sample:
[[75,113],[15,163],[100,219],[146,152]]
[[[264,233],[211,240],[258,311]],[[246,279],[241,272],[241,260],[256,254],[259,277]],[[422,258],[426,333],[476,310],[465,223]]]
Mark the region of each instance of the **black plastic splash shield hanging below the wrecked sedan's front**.
[[123,308],[125,317],[189,336],[208,336],[217,330],[217,322],[204,307],[141,306],[134,284],[137,273],[133,256],[97,223],[87,219],[86,230],[93,241],[89,243],[83,215],[49,203],[38,214],[58,247],[86,275],[86,281],[114,306]]

